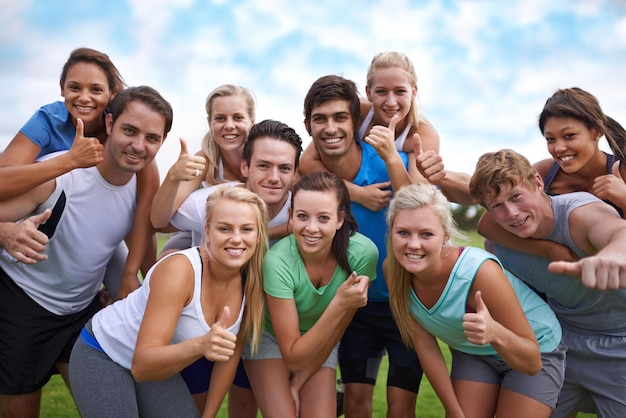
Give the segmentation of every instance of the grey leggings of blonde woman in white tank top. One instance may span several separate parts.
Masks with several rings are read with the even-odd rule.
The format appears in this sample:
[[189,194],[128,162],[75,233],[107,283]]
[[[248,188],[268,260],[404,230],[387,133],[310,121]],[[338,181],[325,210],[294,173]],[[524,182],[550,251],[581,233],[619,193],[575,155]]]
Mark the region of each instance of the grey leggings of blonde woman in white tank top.
[[199,417],[180,374],[137,383],[130,370],[78,338],[70,357],[70,384],[81,416]]

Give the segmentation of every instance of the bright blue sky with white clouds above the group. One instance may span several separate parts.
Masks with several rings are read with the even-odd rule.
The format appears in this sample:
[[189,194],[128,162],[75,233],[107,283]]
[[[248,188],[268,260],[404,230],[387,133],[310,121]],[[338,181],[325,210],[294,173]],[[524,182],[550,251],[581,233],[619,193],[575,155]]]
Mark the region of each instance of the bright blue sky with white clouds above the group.
[[293,126],[305,143],[302,102],[326,74],[364,93],[372,57],[413,61],[422,112],[441,135],[446,165],[473,170],[480,154],[514,148],[549,157],[536,126],[545,100],[578,86],[626,124],[623,0],[0,0],[0,150],[41,105],[77,47],[106,52],[129,85],[158,89],[174,125],[157,156],[164,176],[177,138],[199,149],[206,95],[241,84],[257,121]]

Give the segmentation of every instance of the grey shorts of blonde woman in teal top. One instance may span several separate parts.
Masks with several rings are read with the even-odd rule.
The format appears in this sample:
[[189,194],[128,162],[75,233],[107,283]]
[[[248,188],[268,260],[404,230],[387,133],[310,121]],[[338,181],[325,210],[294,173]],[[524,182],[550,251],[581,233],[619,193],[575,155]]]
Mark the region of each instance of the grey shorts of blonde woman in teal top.
[[477,356],[450,349],[452,352],[452,380],[498,385],[512,392],[528,396],[544,405],[556,406],[565,377],[565,352],[559,344],[550,353],[541,353],[541,370],[534,376],[511,369],[503,360],[491,356]]

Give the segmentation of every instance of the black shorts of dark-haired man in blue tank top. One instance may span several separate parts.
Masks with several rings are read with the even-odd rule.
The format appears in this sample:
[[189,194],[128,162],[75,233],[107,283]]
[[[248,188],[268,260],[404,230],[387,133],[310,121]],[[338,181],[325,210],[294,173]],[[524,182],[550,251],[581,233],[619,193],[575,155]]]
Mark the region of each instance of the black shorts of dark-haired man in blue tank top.
[[368,302],[357,310],[339,345],[339,368],[344,383],[376,384],[382,356],[389,355],[387,386],[417,393],[422,367],[417,354],[404,345],[388,302]]

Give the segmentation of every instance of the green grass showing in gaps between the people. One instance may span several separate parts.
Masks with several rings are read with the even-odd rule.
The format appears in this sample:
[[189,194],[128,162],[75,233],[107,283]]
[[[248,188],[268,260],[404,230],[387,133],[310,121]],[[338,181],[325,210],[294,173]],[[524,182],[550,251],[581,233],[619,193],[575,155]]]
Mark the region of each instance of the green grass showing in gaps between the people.
[[[468,243],[467,245],[474,245],[482,247],[482,238],[475,232],[467,233]],[[446,357],[446,361],[450,360],[450,352],[447,347],[442,345],[442,352]],[[387,357],[383,358],[381,369],[379,373],[379,379],[376,382],[376,388],[374,389],[374,417],[384,417],[387,411],[387,402],[385,395],[385,382],[387,376]],[[416,415],[418,418],[440,418],[444,417],[445,413],[441,402],[435,395],[428,379],[424,377],[420,386],[420,391],[417,397]],[[218,418],[228,417],[226,402],[222,404]],[[261,415],[259,414],[259,417]],[[70,396],[68,389],[60,376],[54,376],[50,383],[48,383],[43,389],[43,399],[41,406],[42,418],[79,418],[76,406]],[[578,418],[595,417],[591,414],[578,414]],[[88,417],[86,417],[88,418]]]

